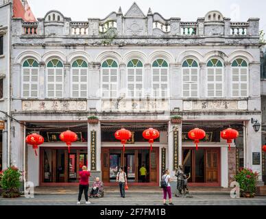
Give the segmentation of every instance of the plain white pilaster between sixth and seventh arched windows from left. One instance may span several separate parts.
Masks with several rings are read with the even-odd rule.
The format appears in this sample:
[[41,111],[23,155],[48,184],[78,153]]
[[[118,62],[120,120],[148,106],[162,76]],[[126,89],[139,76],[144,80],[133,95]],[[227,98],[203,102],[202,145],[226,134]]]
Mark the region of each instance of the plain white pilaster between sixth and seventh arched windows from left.
[[[169,96],[181,97],[182,96],[182,70],[181,64],[170,64],[169,72]],[[179,86],[177,86],[179,85]]]

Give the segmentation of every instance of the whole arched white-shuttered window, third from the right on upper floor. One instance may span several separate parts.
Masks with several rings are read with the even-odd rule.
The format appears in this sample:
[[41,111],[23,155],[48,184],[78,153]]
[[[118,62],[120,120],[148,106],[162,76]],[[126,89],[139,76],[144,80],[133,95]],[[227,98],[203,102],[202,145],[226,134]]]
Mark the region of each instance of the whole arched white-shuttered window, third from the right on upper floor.
[[182,64],[182,92],[184,97],[198,96],[199,68],[195,60],[187,59]]

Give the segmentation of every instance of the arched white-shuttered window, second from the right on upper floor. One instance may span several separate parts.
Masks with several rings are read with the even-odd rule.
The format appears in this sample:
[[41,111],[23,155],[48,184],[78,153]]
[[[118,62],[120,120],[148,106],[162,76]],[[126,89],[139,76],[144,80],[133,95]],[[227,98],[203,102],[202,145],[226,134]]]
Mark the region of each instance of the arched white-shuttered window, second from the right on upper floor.
[[212,59],[207,62],[207,94],[208,97],[223,96],[223,64]]

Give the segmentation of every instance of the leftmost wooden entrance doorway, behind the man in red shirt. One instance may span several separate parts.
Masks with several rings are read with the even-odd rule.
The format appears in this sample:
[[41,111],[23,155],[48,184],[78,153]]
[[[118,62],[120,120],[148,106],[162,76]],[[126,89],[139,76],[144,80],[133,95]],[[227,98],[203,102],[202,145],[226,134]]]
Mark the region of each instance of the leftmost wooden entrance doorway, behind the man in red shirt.
[[82,166],[88,166],[87,149],[40,148],[40,184],[78,183]]

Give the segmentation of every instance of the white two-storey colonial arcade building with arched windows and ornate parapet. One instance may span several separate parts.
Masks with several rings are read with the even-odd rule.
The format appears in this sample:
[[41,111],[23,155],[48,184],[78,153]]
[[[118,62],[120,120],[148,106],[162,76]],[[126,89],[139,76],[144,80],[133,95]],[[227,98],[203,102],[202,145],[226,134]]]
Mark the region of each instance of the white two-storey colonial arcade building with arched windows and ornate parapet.
[[[106,185],[116,185],[121,166],[141,186],[159,185],[162,170],[174,176],[178,164],[201,186],[226,188],[241,166],[261,172],[258,32],[258,18],[233,22],[212,11],[186,22],[136,3],[88,21],[55,10],[34,23],[13,18],[20,123],[12,120],[11,162],[36,186],[74,185],[82,165]],[[150,127],[160,131],[152,151],[142,136]],[[198,150],[188,138],[196,127],[206,131]],[[228,127],[239,131],[230,151],[220,138]],[[125,151],[114,138],[121,128],[132,132]],[[59,138],[67,129],[78,137],[70,153]],[[38,156],[25,143],[33,132],[45,138]]]

